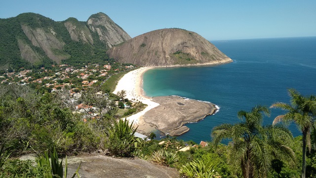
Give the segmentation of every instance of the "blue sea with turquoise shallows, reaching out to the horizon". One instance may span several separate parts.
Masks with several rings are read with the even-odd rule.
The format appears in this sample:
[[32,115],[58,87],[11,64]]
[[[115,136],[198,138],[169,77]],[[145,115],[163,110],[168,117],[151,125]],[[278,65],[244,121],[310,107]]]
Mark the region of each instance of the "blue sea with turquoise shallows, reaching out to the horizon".
[[[212,102],[220,107],[215,115],[187,124],[190,131],[179,139],[209,141],[214,126],[237,123],[237,112],[255,105],[289,103],[287,89],[303,95],[316,94],[316,37],[231,40],[211,42],[233,63],[207,67],[159,68],[144,74],[148,96],[179,95]],[[271,109],[264,124],[272,124],[279,109]],[[297,127],[289,126],[294,136]]]

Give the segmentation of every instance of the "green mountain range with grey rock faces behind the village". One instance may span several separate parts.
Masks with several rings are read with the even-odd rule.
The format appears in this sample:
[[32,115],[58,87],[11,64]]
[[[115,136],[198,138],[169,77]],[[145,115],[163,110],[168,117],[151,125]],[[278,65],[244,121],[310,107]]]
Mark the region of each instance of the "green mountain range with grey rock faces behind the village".
[[105,51],[130,36],[104,13],[86,22],[56,22],[36,13],[0,19],[0,70],[108,58]]

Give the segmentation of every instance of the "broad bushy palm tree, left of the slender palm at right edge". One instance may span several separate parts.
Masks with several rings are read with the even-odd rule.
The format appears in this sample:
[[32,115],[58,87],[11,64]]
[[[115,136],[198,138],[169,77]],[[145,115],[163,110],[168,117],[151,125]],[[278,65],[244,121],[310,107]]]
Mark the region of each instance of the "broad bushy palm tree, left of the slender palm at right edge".
[[293,162],[294,152],[282,140],[291,140],[290,131],[281,125],[262,126],[262,114],[269,115],[264,106],[256,106],[250,112],[239,111],[241,123],[222,124],[212,131],[213,143],[232,139],[230,162],[241,166],[244,178],[265,178],[271,161],[286,159]]

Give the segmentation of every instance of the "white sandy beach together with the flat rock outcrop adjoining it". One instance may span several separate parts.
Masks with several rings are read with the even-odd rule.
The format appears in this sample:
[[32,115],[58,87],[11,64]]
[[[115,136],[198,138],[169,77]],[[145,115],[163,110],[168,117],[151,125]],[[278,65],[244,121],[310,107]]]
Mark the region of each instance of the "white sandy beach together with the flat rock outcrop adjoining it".
[[156,130],[171,136],[181,135],[189,131],[184,126],[197,122],[216,111],[214,104],[209,102],[185,99],[180,96],[147,97],[143,92],[143,74],[152,67],[142,67],[125,74],[113,93],[126,91],[126,98],[141,101],[148,106],[141,112],[127,119],[138,126],[138,132],[149,134]]

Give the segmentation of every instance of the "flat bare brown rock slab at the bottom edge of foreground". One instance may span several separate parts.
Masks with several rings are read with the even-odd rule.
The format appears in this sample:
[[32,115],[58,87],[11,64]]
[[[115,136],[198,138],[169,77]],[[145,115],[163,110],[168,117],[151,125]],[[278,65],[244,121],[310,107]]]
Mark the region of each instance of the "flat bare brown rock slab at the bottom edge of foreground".
[[76,172],[81,162],[81,178],[179,178],[177,170],[142,159],[117,159],[101,155],[68,159],[69,176]]

